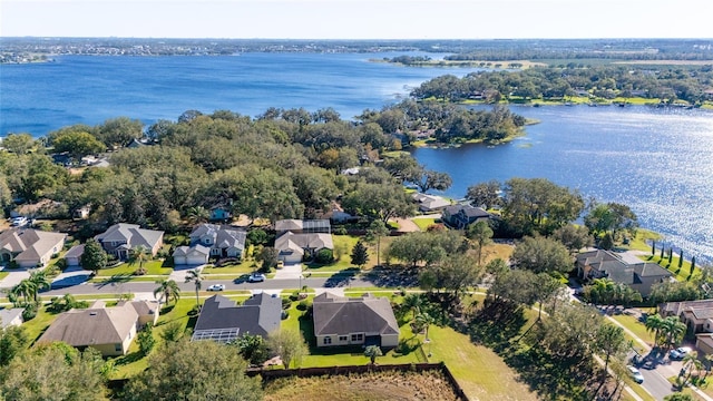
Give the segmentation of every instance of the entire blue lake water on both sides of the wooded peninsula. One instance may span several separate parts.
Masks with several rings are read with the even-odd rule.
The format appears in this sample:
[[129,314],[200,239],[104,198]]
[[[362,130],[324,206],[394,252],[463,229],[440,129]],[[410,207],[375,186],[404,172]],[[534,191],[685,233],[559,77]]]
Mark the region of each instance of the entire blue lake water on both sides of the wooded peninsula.
[[[424,80],[475,68],[369,62],[402,53],[245,53],[233,57],[58,57],[0,66],[0,134],[39,137],[127,116],[146,125],[188,110],[255,117],[268,107],[333,107],[350,119],[398,101]],[[432,58],[439,56],[429,55]],[[460,198],[472,184],[545,177],[621,202],[686,255],[713,257],[713,113],[649,107],[521,107],[540,124],[510,144],[420,148]]]

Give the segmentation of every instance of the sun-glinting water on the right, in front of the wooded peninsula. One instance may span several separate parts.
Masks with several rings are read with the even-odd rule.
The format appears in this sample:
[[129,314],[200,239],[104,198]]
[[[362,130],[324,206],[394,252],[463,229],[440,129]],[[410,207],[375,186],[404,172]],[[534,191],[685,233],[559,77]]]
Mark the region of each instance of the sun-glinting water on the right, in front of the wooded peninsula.
[[448,172],[446,193],[511,177],[546,177],[586,197],[629,205],[643,227],[684,253],[713,255],[713,113],[639,107],[512,107],[540,120],[506,145],[420,148],[414,157]]

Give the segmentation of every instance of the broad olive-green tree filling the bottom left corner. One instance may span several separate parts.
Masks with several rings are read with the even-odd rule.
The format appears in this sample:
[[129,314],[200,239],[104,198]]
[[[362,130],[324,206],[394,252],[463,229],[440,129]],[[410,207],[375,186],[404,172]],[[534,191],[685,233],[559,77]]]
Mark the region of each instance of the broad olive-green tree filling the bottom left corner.
[[18,401],[106,400],[104,368],[101,355],[92,348],[82,353],[56,344],[33,348],[17,355],[0,372],[0,398]]

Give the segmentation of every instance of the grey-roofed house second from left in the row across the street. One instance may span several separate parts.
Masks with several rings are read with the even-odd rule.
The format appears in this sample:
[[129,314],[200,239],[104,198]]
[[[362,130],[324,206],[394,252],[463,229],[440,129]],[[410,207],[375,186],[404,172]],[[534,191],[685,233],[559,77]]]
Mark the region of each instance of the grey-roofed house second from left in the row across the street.
[[164,245],[164,232],[141,228],[138,224],[119,223],[95,236],[95,239],[107,253],[125,261],[129,257],[129,251],[137,246],[145,247],[152,256],[156,256]]

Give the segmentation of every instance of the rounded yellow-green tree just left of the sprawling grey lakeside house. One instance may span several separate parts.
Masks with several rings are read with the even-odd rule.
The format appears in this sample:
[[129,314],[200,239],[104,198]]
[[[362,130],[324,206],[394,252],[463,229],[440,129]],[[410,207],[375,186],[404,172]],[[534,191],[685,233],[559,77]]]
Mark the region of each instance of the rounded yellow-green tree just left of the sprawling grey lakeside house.
[[569,251],[560,242],[543,236],[525,237],[512,252],[512,264],[535,273],[568,273],[574,268]]

